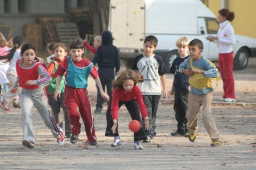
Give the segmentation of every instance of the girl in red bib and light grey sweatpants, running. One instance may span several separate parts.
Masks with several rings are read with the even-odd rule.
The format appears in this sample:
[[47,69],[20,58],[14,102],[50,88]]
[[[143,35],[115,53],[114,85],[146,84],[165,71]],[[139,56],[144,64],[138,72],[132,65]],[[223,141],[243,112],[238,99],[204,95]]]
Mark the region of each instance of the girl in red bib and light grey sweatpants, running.
[[53,137],[57,138],[57,143],[64,145],[62,129],[56,125],[51,114],[49,114],[47,96],[43,86],[51,82],[51,75],[44,69],[44,66],[36,57],[36,48],[27,42],[20,50],[21,59],[16,62],[16,72],[18,74],[12,92],[17,90],[18,84],[22,87],[20,94],[20,107],[22,109],[22,145],[28,148],[35,146],[33,133],[32,107],[36,109],[43,118],[46,126],[51,130]]

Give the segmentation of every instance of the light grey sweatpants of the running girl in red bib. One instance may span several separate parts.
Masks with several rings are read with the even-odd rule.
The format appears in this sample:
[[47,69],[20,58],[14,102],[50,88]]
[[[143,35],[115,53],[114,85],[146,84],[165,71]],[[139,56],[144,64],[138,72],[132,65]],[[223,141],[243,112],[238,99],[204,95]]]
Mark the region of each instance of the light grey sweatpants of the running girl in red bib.
[[51,130],[53,137],[59,137],[59,133],[62,133],[62,129],[56,125],[54,118],[49,113],[46,93],[43,90],[43,87],[39,87],[35,90],[26,90],[23,88],[20,94],[23,139],[27,139],[35,143],[32,121],[33,105],[35,105],[35,108],[38,110],[40,116],[43,118],[44,124],[46,124],[49,130]]

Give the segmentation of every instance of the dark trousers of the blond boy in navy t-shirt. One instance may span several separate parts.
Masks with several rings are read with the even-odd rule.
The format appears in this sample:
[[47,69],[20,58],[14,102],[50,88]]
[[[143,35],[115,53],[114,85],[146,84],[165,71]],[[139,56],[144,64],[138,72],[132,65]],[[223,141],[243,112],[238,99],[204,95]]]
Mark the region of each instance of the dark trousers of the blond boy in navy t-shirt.
[[187,118],[188,110],[188,94],[189,91],[174,90],[174,110],[175,119],[177,121],[177,133],[187,133]]

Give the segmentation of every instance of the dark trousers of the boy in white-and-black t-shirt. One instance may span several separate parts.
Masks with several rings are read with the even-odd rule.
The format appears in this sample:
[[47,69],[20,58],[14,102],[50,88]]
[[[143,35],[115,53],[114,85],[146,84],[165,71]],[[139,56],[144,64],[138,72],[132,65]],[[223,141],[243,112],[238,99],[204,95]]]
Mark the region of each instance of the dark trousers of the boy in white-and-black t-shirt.
[[144,104],[147,108],[148,114],[148,130],[145,130],[144,121],[142,121],[143,129],[148,137],[154,137],[156,134],[155,128],[155,120],[156,120],[156,113],[158,112],[158,104],[161,95],[142,95]]

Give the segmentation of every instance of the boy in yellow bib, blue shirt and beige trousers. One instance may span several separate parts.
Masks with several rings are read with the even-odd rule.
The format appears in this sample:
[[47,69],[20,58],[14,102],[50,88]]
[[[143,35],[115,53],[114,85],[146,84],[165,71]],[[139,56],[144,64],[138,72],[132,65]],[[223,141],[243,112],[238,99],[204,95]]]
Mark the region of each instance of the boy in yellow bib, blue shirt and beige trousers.
[[191,86],[188,95],[187,128],[188,139],[196,140],[197,115],[203,106],[203,124],[207,130],[212,144],[210,146],[221,146],[222,141],[212,116],[212,78],[217,80],[218,70],[214,63],[201,56],[204,45],[199,39],[194,39],[188,44],[189,58],[180,65],[180,70],[189,76]]

